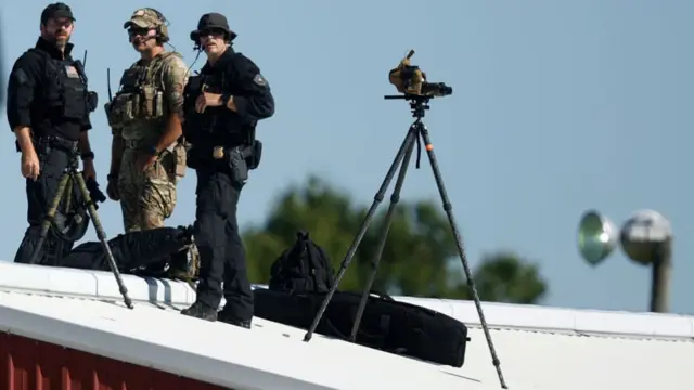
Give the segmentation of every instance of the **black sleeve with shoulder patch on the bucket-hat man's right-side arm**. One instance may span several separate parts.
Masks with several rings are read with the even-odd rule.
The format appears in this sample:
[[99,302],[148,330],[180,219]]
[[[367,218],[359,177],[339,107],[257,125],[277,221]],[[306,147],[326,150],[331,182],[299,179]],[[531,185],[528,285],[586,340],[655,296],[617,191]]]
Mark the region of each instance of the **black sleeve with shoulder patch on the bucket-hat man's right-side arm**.
[[274,114],[274,98],[258,66],[240,54],[234,55],[231,66],[235,86],[242,92],[232,98],[236,114],[247,122],[271,117]]

